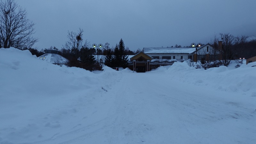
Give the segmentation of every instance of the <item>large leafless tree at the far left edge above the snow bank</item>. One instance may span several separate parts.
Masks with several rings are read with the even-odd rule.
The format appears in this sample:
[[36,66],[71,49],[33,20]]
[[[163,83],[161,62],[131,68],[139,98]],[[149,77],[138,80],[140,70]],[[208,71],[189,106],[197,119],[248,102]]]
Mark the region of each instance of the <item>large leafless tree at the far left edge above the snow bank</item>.
[[14,0],[0,2],[0,47],[30,48],[38,39],[32,37],[35,24]]

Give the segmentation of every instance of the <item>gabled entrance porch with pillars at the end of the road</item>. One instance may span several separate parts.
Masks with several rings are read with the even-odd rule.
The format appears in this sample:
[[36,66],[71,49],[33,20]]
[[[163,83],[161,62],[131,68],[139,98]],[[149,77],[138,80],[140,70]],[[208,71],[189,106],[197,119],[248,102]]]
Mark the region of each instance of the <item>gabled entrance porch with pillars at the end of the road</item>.
[[131,70],[136,72],[147,72],[150,70],[149,62],[150,60],[153,60],[153,58],[144,52],[140,52],[130,58],[130,60],[132,61],[132,65],[129,66]]

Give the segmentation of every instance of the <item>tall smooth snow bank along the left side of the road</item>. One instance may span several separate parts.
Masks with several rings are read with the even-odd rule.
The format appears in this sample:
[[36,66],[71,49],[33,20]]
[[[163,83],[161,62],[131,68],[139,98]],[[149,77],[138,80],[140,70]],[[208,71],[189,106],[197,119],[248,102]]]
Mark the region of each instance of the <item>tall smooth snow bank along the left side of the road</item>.
[[[81,99],[81,90],[101,91],[106,77],[113,75],[104,73],[100,77],[81,68],[60,67],[15,48],[0,49],[0,67],[0,135],[4,137],[0,140],[21,143],[26,137],[34,141],[54,135],[56,128],[65,124],[61,119],[79,111],[79,106],[70,104]],[[91,99],[91,92],[83,96]]]

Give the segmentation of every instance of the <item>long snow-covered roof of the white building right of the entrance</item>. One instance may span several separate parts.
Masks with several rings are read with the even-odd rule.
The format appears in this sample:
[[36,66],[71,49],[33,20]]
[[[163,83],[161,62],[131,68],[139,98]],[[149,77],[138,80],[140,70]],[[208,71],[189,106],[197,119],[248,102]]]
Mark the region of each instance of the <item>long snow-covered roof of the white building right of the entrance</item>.
[[[205,47],[206,45],[210,45],[210,44],[205,44],[201,47],[199,47],[197,50],[202,49],[203,47]],[[196,48],[195,47],[151,47],[151,48],[143,48],[143,52],[144,53],[149,53],[149,54],[153,54],[153,53],[194,53],[196,52]]]

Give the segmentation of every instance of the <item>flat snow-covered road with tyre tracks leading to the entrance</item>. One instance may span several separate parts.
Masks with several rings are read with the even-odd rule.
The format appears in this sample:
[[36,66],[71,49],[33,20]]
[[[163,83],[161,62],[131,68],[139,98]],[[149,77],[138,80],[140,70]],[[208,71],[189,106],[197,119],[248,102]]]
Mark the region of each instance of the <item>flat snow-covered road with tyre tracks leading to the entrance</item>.
[[87,117],[94,123],[42,143],[256,141],[255,114],[230,92],[202,90],[154,72],[117,77],[108,92],[100,92],[105,102]]

